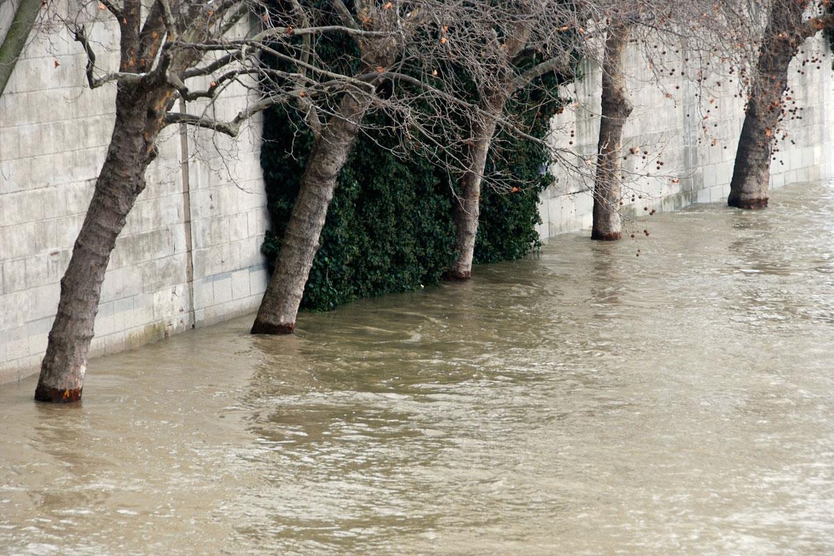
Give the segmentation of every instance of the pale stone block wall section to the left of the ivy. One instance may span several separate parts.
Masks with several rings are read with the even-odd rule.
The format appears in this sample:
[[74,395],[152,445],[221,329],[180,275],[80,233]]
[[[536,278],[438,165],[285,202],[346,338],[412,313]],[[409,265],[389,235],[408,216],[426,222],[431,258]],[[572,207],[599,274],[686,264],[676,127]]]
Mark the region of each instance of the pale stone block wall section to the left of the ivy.
[[[117,33],[98,24],[92,37],[108,67]],[[38,370],[112,132],[115,89],[89,90],[84,66],[66,31],[42,33],[0,97],[0,383]],[[219,111],[244,105],[245,90],[232,93]],[[260,125],[234,141],[189,130],[185,156],[180,130],[166,130],[110,260],[93,354],[257,308],[267,281]]]

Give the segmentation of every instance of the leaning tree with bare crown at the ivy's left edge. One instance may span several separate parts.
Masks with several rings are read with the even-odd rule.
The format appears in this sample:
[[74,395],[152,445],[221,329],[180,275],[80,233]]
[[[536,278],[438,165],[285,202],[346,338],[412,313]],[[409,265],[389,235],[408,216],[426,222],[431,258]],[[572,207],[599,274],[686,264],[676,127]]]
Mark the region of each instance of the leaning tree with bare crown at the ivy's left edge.
[[[392,83],[394,78],[399,83],[406,78],[404,68],[416,63],[425,65],[420,55],[424,50],[443,52],[442,48],[434,48],[432,44],[437,40],[445,43],[445,38],[432,35],[440,33],[438,22],[462,17],[462,13],[454,13],[455,8],[447,11],[446,8],[451,6],[451,3],[444,4],[443,0],[425,4],[359,0],[350,9],[342,0],[334,0],[331,10],[311,14],[322,18],[323,23],[334,21],[345,28],[367,29],[376,33],[374,36],[354,35],[351,43],[344,44],[344,53],[331,57],[334,58],[331,63],[339,64],[341,61],[346,66],[343,71],[351,73],[359,83],[367,84],[367,88],[345,93],[334,106],[329,105],[328,99],[321,99],[321,102],[308,99],[303,108],[305,118],[314,121],[314,146],[300,179],[299,195],[290,213],[279,258],[255,317],[252,333],[293,333],[295,316],[319,248],[336,180],[362,129],[365,115],[374,104],[379,108],[379,104],[383,103],[383,95],[379,93],[384,83]],[[459,7],[460,4],[456,6]],[[279,9],[274,17],[290,22],[298,17],[297,12],[296,9]],[[301,47],[304,50],[301,58],[316,54],[319,59],[325,59],[326,54],[319,50],[327,51],[327,47],[327,43],[311,45],[305,42]],[[298,64],[293,67],[292,63],[289,67],[291,71],[302,69]],[[389,109],[399,112],[399,116],[409,114],[406,106],[396,102],[399,94],[394,91],[389,93],[386,99]],[[398,110],[394,110],[394,106]],[[403,125],[408,126],[409,123]]]

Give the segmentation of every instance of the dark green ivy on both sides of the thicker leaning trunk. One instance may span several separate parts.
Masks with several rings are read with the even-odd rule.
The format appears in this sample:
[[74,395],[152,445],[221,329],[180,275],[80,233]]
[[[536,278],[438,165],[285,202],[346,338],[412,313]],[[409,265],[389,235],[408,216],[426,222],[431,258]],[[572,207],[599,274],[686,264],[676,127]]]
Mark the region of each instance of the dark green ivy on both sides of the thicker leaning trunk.
[[[287,111],[264,122],[261,164],[273,231],[264,242],[270,267],[298,194],[312,144],[299,133],[293,144]],[[449,185],[423,160],[404,161],[384,147],[395,139],[361,137],[339,176],[302,307],[330,309],[355,298],[402,292],[436,283],[453,255]],[[379,144],[378,144],[379,143]],[[293,150],[296,158],[286,156]]]

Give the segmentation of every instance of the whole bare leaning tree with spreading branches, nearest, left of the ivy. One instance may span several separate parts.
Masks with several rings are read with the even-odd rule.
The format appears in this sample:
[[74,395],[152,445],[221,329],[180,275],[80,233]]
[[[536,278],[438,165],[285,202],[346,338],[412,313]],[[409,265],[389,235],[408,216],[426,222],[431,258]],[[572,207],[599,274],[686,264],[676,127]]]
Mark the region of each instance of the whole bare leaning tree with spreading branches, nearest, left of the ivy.
[[[364,81],[334,73],[299,58],[298,37],[323,33],[370,35],[359,28],[274,26],[258,0],[78,0],[73,17],[56,8],[54,18],[71,28],[87,54],[90,88],[116,86],[116,115],[108,153],[93,198],[61,280],[58,313],[49,333],[35,398],[72,402],[81,398],[93,323],[98,312],[104,273],[116,238],[133,203],[145,188],[145,170],[157,153],[156,141],[166,126],[191,124],[237,135],[254,113],[275,103],[329,97],[372,89]],[[105,12],[106,10],[106,12]],[[118,25],[118,68],[99,68],[88,36],[91,13],[109,13]],[[237,37],[229,30],[243,26]],[[259,55],[273,52],[303,65],[306,73],[265,68]],[[173,111],[179,98],[222,97],[229,83],[269,83],[269,94],[229,121]]]

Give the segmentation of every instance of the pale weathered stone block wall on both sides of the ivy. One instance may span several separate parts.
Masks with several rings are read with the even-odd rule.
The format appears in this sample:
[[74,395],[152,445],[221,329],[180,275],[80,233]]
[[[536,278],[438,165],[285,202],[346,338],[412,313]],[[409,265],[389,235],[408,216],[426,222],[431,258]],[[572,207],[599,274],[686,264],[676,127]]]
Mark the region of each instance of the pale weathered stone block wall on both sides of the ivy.
[[[113,63],[113,29],[98,25],[93,33],[102,44],[101,64]],[[815,43],[827,53],[821,38]],[[114,89],[90,91],[84,64],[66,31],[43,35],[23,53],[0,97],[0,383],[38,370],[58,304],[58,281],[108,145]],[[774,187],[834,171],[830,64],[829,57],[819,70],[791,72],[792,94],[804,109],[802,119],[788,126],[796,144],[786,142],[773,163]],[[555,119],[557,128],[572,130],[574,137],[557,134],[555,141],[593,153],[600,73],[590,66],[585,72],[585,80],[569,91],[582,108]],[[625,129],[625,147],[648,150],[647,168],[655,174],[632,180],[630,187],[648,199],[636,209],[724,200],[742,121],[734,89],[700,103],[693,83],[680,76],[664,79],[665,89],[658,88],[636,50],[628,73],[636,108]],[[216,108],[216,115],[235,113],[246,100],[240,89]],[[203,108],[189,105],[188,110]],[[267,227],[260,125],[255,119],[237,140],[190,130],[184,148],[180,130],[167,130],[148,171],[148,188],[110,261],[94,354],[133,348],[257,308],[267,282],[259,253]],[[709,128],[706,135],[703,125]],[[658,153],[661,172],[651,164]],[[641,156],[625,163],[635,175],[644,173]],[[590,227],[590,183],[558,168],[554,172],[559,182],[545,192],[540,206],[543,238]]]

